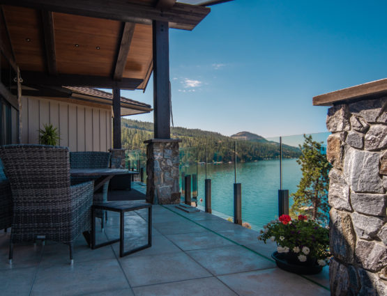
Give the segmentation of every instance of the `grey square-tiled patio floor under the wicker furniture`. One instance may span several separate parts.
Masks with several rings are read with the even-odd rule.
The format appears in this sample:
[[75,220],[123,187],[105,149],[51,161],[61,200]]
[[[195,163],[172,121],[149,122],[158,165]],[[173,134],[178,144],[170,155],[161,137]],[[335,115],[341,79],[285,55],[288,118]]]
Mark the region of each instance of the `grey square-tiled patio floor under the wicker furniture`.
[[[98,241],[118,237],[109,212]],[[126,215],[126,248],[146,242],[146,210]],[[91,250],[54,242],[15,244],[8,264],[9,233],[0,232],[0,295],[330,295],[328,268],[316,276],[284,272],[271,260],[274,245],[257,232],[205,212],[153,206],[153,246],[119,258],[119,245]]]

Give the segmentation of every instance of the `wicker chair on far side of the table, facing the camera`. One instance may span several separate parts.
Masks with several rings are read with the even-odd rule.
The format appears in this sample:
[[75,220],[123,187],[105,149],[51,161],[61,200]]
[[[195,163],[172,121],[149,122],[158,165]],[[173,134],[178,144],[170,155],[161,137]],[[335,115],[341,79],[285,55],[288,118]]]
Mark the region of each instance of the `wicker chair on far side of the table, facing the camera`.
[[[110,164],[110,153],[98,151],[70,152],[71,169],[107,169]],[[94,178],[96,179],[96,178]],[[91,177],[72,177],[71,184],[79,184],[94,180]],[[106,182],[101,189],[94,193],[94,203],[105,203],[107,201],[107,189],[109,182]],[[103,229],[104,221],[107,221],[107,212],[103,210],[96,211],[96,217],[101,219],[101,228]],[[105,219],[103,219],[105,217]]]

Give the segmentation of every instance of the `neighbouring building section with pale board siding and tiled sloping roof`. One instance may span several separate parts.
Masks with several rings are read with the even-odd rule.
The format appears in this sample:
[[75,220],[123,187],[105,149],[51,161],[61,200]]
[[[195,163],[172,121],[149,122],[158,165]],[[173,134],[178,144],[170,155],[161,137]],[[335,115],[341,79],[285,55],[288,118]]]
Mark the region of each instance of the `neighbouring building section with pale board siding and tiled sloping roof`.
[[[39,128],[52,124],[59,130],[59,144],[70,151],[112,148],[112,93],[73,86],[24,87],[22,93],[21,143],[38,143]],[[149,104],[121,97],[121,116],[150,111]]]

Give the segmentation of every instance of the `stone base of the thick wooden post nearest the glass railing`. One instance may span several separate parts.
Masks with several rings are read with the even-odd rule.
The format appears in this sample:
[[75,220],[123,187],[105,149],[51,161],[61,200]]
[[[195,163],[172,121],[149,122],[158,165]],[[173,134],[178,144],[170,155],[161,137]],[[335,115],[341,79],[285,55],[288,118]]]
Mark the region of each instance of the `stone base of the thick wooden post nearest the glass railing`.
[[180,203],[179,139],[151,139],[146,146],[146,201]]

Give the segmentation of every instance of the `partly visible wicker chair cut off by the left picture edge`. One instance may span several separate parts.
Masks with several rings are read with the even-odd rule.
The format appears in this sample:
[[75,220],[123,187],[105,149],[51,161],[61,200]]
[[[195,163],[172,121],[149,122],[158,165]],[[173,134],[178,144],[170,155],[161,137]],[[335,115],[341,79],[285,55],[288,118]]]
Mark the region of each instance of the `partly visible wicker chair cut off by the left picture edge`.
[[13,201],[10,192],[10,183],[3,171],[3,163],[0,159],[0,229],[7,232],[12,224]]

